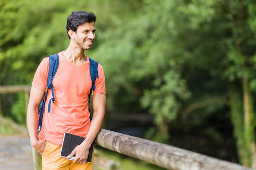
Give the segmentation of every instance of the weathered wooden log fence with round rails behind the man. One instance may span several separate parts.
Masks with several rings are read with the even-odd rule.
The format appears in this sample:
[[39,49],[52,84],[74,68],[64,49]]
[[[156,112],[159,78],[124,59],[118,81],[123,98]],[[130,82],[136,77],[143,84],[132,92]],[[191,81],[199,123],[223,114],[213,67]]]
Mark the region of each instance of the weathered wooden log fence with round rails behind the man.
[[[0,94],[23,91],[27,104],[29,89],[30,86],[0,86]],[[168,170],[252,170],[236,163],[106,129],[100,130],[95,144]],[[33,156],[34,169],[40,170],[40,154],[34,152]]]

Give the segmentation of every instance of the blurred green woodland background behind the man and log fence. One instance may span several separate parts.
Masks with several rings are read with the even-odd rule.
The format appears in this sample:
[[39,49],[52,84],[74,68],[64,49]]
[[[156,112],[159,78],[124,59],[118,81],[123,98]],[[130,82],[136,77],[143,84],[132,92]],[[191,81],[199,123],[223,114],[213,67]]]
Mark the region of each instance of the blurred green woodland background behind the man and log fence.
[[[30,85],[67,48],[77,10],[97,16],[85,54],[105,72],[102,128],[253,166],[256,1],[1,0],[0,85]],[[23,93],[1,94],[0,106],[26,127]],[[0,122],[0,133],[13,131]]]

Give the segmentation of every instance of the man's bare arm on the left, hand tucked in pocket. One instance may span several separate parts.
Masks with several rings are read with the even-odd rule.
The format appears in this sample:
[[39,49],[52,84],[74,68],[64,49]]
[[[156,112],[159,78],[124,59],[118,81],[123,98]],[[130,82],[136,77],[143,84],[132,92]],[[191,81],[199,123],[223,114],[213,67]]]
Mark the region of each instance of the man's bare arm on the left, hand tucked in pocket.
[[29,132],[30,144],[40,154],[45,150],[46,141],[38,140],[38,108],[43,99],[45,91],[31,86],[29,103],[27,106],[27,129]]

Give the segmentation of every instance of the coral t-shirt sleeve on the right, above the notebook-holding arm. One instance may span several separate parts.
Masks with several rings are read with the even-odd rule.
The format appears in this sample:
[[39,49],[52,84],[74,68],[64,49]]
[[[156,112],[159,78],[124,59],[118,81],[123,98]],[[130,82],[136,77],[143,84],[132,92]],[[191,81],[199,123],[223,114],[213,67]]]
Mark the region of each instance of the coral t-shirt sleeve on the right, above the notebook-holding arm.
[[104,75],[103,68],[100,64],[98,64],[98,74],[99,74],[99,78],[95,80],[94,93],[106,94],[105,75]]

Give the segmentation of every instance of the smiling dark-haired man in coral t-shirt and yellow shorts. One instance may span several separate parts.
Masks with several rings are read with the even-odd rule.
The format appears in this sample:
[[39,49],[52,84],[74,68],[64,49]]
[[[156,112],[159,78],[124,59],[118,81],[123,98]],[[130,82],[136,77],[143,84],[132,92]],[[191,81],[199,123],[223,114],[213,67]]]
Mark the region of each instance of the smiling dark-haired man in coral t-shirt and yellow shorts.
[[[43,170],[92,170],[93,157],[92,163],[86,163],[88,149],[101,128],[106,105],[105,77],[99,64],[99,78],[95,81],[96,88],[92,97],[94,112],[90,121],[88,96],[92,80],[90,61],[84,51],[91,49],[95,39],[95,21],[95,15],[86,11],[74,11],[67,18],[66,29],[70,44],[65,51],[58,53],[59,65],[52,81],[57,106],[50,102],[51,110],[47,113],[52,98],[51,89],[48,89],[39,134],[38,106],[47,84],[48,57],[43,59],[35,73],[27,109],[27,128],[31,146],[42,154]],[[67,157],[71,158],[75,154],[74,160],[59,156],[64,132],[86,137]]]

